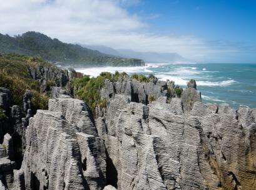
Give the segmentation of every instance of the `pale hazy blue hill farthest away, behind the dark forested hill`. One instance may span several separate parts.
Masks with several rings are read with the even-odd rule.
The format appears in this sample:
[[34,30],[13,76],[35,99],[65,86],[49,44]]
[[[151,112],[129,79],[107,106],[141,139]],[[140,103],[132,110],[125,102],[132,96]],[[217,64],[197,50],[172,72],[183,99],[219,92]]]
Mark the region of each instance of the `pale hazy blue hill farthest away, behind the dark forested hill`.
[[104,45],[83,45],[83,47],[98,50],[104,54],[115,55],[118,57],[138,58],[145,62],[185,62],[188,61],[177,53],[158,53],[158,52],[136,52],[130,49],[113,49]]

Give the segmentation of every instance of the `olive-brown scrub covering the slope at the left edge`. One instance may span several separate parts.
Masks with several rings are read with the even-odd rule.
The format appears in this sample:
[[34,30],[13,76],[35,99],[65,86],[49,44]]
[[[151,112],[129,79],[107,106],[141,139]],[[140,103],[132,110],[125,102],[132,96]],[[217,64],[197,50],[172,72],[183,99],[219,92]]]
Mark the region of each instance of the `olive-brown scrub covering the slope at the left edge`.
[[28,74],[29,67],[38,66],[52,67],[38,57],[18,54],[0,55],[0,87],[11,91],[13,105],[23,107],[23,95],[26,89],[29,89],[33,93],[32,103],[35,110],[48,107],[49,98],[46,94],[39,93],[39,83]]

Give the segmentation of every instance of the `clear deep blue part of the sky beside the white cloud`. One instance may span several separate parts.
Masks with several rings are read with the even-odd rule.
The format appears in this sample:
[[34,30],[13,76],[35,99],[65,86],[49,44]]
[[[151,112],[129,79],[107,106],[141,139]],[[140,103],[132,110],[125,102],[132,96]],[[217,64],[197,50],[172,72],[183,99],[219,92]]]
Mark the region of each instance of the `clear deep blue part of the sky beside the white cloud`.
[[158,0],[138,1],[128,11],[148,19],[158,34],[201,37],[209,42],[256,46],[256,1]]

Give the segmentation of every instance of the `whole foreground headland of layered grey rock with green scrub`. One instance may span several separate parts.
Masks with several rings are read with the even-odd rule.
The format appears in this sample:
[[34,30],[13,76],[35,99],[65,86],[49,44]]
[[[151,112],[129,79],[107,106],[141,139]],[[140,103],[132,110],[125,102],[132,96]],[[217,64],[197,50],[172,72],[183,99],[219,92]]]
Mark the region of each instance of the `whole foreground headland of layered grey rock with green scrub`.
[[0,75],[0,189],[256,189],[255,108],[203,103],[193,79],[2,59],[21,58]]

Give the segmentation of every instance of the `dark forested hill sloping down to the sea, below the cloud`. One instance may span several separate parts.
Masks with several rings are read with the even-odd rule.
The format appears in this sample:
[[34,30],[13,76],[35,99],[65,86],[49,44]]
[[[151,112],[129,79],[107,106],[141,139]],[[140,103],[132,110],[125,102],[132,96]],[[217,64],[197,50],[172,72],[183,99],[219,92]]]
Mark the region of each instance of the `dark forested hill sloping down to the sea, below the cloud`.
[[140,59],[116,57],[81,45],[66,44],[39,32],[26,32],[15,37],[0,34],[0,53],[38,55],[49,62],[60,62],[76,67],[145,64]]

